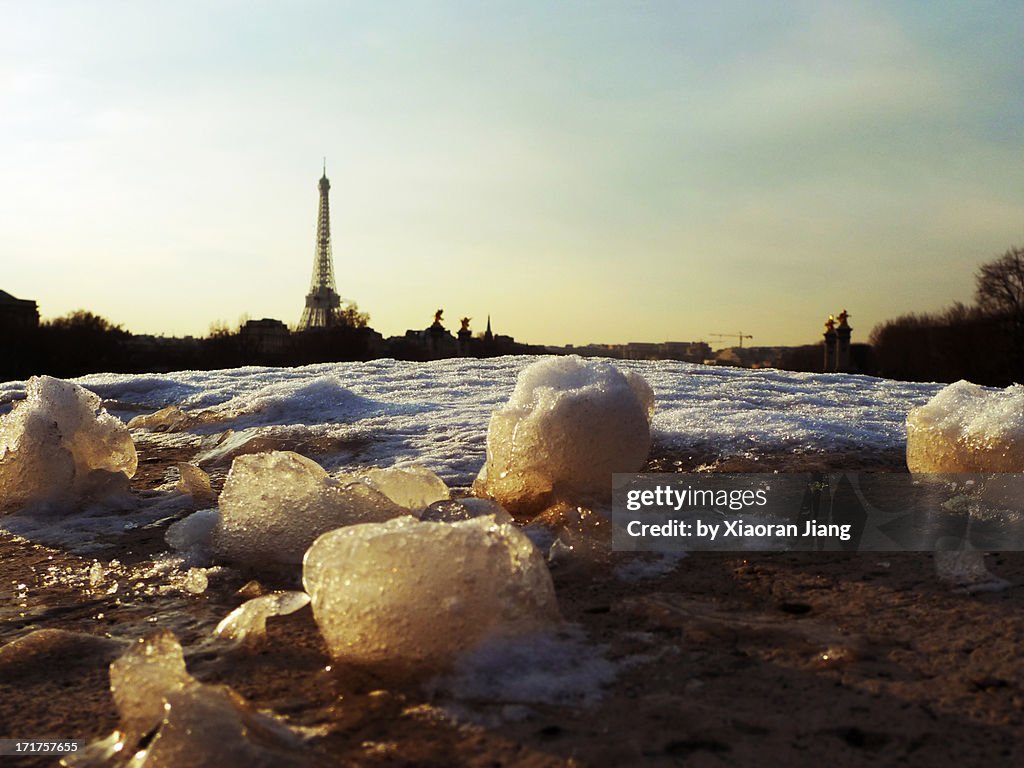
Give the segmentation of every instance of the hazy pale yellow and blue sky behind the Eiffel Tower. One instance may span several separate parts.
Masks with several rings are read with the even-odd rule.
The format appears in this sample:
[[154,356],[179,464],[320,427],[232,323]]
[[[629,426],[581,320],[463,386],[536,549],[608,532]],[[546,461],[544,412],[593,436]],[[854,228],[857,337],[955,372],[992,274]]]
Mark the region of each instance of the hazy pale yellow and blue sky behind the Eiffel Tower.
[[294,325],[327,156],[385,336],[863,341],[1024,245],[1022,35],[1020,0],[0,0],[0,290]]

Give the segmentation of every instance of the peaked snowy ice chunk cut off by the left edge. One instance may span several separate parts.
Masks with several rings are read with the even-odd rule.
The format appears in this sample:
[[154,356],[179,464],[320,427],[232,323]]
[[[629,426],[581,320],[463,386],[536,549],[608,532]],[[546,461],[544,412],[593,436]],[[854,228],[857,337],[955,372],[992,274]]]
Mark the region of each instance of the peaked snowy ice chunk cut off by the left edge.
[[127,427],[78,384],[33,377],[0,417],[0,511],[123,490],[137,464]]

